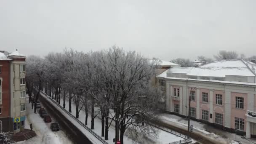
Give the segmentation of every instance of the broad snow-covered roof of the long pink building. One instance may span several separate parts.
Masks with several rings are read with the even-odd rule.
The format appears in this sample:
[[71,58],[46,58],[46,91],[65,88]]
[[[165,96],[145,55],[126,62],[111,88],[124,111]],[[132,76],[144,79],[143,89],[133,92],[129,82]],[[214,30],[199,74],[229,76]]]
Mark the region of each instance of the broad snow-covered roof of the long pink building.
[[181,73],[191,76],[225,77],[235,76],[256,76],[256,65],[241,59],[213,61],[199,67],[174,67],[168,69],[157,77],[167,77],[167,73]]

